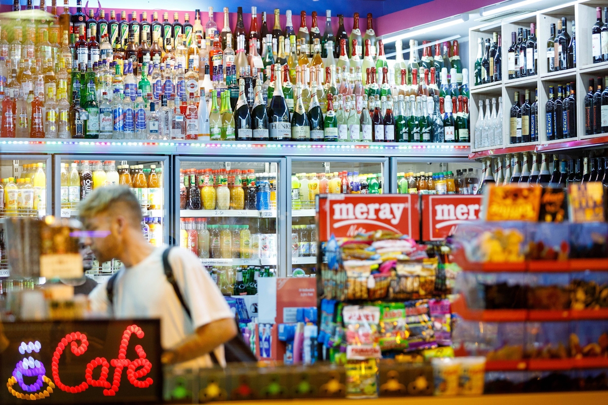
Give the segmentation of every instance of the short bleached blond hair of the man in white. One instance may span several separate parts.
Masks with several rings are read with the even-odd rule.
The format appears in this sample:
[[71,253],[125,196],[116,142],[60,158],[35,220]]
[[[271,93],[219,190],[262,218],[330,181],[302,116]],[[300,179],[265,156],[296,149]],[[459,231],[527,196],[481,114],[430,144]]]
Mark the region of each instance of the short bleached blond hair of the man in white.
[[[122,214],[131,216],[135,224],[142,222],[142,208],[139,201],[131,188],[126,186],[105,186],[94,189],[78,205],[80,220],[83,222],[113,209],[120,209]],[[128,212],[125,212],[125,209]]]

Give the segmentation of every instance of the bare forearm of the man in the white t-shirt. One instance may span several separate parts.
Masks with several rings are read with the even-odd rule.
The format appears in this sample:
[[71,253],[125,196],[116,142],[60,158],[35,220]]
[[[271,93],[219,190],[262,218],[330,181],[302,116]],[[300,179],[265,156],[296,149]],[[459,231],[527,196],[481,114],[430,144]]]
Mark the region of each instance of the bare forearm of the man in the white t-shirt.
[[218,319],[196,329],[196,333],[186,336],[173,350],[162,354],[163,364],[174,364],[206,355],[219,345],[237,336],[234,319]]

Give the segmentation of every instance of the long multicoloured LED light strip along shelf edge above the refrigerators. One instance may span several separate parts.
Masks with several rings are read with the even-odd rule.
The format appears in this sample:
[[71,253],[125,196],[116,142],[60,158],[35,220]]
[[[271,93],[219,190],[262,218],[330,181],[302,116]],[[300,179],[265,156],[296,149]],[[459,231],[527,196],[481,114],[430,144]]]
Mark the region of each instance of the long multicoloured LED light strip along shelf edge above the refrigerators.
[[263,143],[176,143],[104,141],[0,141],[0,145],[85,145],[85,146],[191,146],[192,148],[297,148],[297,149],[466,149],[468,145],[280,145]]

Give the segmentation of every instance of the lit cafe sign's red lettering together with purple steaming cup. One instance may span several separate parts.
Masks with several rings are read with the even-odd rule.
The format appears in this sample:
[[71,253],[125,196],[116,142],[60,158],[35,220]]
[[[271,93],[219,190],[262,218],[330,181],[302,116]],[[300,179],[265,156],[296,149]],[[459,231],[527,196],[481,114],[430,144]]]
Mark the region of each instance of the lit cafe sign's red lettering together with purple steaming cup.
[[[119,391],[120,379],[122,373],[126,369],[126,378],[129,383],[137,388],[148,388],[154,381],[148,377],[144,377],[150,372],[152,363],[146,358],[146,352],[143,350],[141,345],[135,346],[135,352],[138,358],[130,360],[126,358],[126,349],[129,346],[131,335],[137,336],[142,339],[144,336],[142,328],[137,325],[130,325],[125,329],[120,341],[120,348],[116,359],[110,361],[106,358],[95,358],[92,359],[86,365],[85,381],[78,384],[77,386],[66,386],[61,382],[60,378],[60,367],[59,360],[63,355],[64,350],[69,347],[75,356],[83,355],[89,345],[89,341],[84,333],[72,332],[67,334],[57,344],[57,348],[53,353],[53,358],[50,366],[50,373],[52,378],[46,375],[47,370],[44,368],[44,364],[34,359],[30,354],[38,353],[41,349],[41,344],[38,341],[35,342],[21,342],[19,345],[19,353],[30,356],[24,357],[18,361],[15,369],[13,369],[13,375],[10,376],[7,383],[7,388],[11,395],[21,400],[43,400],[44,398],[52,395],[55,389],[60,389],[66,393],[80,393],[87,390],[89,387],[102,387],[103,395],[114,396]],[[80,342],[80,344],[78,344]],[[101,367],[100,377],[93,379],[93,371]],[[112,375],[111,381],[108,381],[110,367],[114,367],[114,374]],[[35,377],[35,383],[28,384],[24,381],[25,377]]]

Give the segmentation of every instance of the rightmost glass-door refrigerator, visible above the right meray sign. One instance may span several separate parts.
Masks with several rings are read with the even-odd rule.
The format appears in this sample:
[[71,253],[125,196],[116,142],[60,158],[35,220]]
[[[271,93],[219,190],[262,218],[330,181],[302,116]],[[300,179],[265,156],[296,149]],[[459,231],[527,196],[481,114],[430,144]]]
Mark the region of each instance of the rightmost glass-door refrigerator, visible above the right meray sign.
[[468,179],[477,185],[481,176],[482,164],[465,157],[392,157],[389,190],[393,194],[469,194],[458,188],[458,182],[466,184]]

